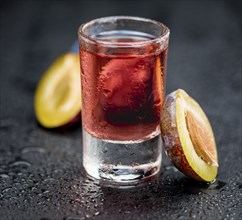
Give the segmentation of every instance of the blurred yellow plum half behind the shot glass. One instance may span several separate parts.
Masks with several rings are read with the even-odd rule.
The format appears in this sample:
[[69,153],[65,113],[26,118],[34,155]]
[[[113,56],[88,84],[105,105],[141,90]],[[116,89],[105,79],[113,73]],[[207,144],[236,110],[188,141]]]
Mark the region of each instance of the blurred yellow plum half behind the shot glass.
[[73,125],[81,119],[79,54],[60,56],[44,73],[34,97],[35,115],[46,128]]

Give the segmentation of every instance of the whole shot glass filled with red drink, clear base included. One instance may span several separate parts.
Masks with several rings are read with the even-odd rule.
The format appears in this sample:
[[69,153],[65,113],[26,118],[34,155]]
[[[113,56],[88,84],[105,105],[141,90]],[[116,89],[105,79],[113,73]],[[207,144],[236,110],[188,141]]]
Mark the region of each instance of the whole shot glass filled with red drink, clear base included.
[[81,25],[78,38],[84,169],[116,185],[156,176],[169,29],[146,18],[112,16]]

